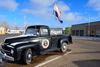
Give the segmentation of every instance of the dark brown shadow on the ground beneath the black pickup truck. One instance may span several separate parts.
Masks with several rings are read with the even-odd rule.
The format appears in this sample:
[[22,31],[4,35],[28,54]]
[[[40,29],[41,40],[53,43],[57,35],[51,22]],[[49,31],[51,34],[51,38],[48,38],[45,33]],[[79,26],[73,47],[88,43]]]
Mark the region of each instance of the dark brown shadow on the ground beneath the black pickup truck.
[[[67,50],[67,52],[71,51],[70,49]],[[8,61],[6,67],[33,67],[36,66],[42,62],[45,61],[46,58],[50,57],[50,56],[54,56],[54,55],[63,55],[64,53],[61,53],[59,50],[56,50],[54,52],[47,52],[44,55],[40,55],[40,56],[34,56],[32,63],[29,65],[25,65],[23,63],[23,60],[19,60],[19,61],[15,61],[15,62],[11,62]]]

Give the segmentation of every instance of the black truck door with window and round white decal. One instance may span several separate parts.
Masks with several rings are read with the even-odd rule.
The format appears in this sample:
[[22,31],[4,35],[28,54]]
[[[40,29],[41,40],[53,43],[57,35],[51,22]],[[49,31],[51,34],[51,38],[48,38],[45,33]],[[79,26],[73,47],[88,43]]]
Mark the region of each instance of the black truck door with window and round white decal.
[[40,28],[40,50],[47,50],[51,48],[51,37],[48,27],[41,27]]

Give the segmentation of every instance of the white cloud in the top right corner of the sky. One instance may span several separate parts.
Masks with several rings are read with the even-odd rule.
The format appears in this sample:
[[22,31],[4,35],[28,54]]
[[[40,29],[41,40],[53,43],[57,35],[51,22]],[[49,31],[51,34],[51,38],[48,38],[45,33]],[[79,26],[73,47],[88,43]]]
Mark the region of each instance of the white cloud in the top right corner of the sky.
[[94,10],[100,10],[100,0],[89,0],[86,5],[93,7]]

